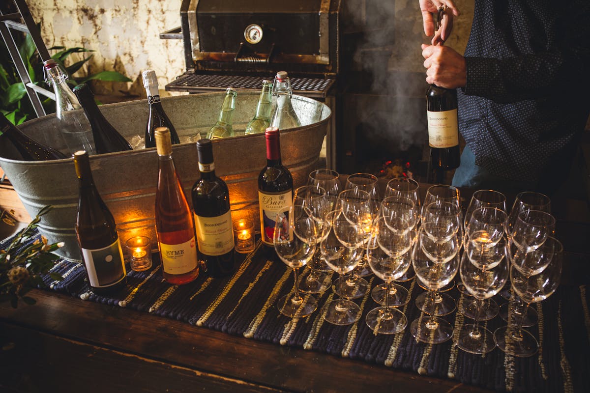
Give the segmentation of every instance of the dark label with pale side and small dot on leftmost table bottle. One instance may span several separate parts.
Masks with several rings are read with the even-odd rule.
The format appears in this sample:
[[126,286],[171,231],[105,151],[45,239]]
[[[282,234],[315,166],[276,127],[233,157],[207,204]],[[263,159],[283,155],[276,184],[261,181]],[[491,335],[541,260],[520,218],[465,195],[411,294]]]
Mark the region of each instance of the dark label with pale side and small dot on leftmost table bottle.
[[90,285],[94,288],[105,288],[125,278],[123,250],[119,237],[112,245],[101,249],[81,249],[84,265],[88,272]]

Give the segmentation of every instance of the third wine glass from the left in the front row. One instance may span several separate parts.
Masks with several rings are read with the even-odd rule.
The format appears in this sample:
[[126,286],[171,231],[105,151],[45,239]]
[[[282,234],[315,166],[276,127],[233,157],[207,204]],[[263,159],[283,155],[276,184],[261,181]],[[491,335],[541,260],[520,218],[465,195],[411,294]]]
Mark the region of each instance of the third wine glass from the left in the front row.
[[367,247],[367,257],[373,273],[385,281],[385,306],[369,311],[365,321],[374,333],[399,333],[407,326],[408,319],[389,304],[389,285],[401,277],[411,264],[411,253],[408,252],[412,245],[411,234],[392,231],[383,222],[383,217],[379,217],[372,237],[379,246]]

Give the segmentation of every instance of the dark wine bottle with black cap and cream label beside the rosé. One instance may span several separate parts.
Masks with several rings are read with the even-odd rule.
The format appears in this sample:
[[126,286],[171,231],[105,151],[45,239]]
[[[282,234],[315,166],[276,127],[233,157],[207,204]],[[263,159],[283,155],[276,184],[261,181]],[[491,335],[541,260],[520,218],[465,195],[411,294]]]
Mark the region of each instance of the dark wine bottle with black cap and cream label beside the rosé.
[[211,140],[198,140],[196,150],[201,179],[192,186],[192,207],[199,262],[205,262],[209,275],[227,276],[235,265],[230,192],[225,181],[215,176]]

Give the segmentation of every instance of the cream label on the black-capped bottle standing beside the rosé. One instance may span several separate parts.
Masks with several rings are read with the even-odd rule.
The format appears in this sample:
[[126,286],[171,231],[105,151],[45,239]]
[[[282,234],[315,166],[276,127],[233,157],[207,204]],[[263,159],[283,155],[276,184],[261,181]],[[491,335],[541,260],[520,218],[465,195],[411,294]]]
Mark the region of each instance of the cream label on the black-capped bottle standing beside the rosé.
[[234,248],[230,210],[217,217],[201,217],[195,214],[195,229],[199,251],[205,255],[224,255]]

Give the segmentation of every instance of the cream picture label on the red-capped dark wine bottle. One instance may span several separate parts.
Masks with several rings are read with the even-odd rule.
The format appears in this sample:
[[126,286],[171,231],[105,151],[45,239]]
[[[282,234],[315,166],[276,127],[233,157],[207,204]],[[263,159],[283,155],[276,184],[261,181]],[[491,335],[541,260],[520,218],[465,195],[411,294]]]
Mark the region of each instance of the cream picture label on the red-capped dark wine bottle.
[[260,206],[260,232],[262,241],[273,245],[274,226],[277,216],[281,222],[289,223],[289,207],[293,204],[291,189],[278,193],[258,190],[258,206]]

